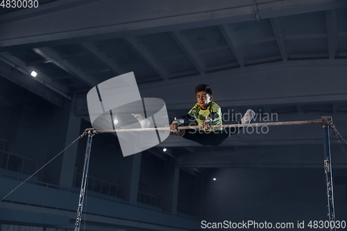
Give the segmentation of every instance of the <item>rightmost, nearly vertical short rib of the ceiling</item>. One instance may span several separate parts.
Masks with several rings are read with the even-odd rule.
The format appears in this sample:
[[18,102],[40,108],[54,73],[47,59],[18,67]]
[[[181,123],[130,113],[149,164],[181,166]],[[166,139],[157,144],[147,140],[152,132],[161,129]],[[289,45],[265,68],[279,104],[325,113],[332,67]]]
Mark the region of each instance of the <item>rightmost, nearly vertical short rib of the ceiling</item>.
[[336,56],[337,49],[337,21],[336,21],[336,11],[326,10],[326,24],[328,31],[328,48],[329,48],[329,58],[334,59]]

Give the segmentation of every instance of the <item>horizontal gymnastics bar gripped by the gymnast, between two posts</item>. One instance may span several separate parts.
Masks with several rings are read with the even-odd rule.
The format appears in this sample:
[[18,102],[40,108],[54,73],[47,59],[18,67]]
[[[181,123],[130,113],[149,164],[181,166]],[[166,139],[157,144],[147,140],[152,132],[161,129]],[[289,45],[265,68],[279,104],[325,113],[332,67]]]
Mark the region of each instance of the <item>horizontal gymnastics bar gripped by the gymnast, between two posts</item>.
[[[269,122],[269,123],[246,123],[246,124],[223,124],[223,125],[212,125],[211,128],[240,128],[240,127],[260,127],[260,126],[282,126],[282,125],[300,125],[319,123],[322,124],[321,119],[306,120],[306,121],[287,121],[287,122]],[[180,126],[178,130],[185,129],[201,129],[203,126]],[[90,128],[89,128],[90,129]],[[165,128],[130,128],[130,129],[116,129],[116,130],[92,130],[92,133],[110,133],[110,132],[149,132],[153,130],[169,130],[169,127]],[[88,129],[86,129],[88,130]]]

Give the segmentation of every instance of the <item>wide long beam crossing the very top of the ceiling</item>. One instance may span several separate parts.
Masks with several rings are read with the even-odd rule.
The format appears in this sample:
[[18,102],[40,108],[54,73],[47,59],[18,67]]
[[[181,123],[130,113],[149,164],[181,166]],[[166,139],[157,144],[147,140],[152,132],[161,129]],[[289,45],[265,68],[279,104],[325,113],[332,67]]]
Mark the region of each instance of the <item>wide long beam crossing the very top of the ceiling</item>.
[[[54,1],[37,9],[2,15],[0,50],[8,51],[15,46],[28,49],[81,43],[256,20],[253,1],[201,3],[198,0],[177,0],[171,3],[149,0],[137,3],[137,8],[134,8],[131,1],[120,5],[111,0],[104,0],[102,4],[91,0],[71,4]],[[257,11],[261,19],[267,19],[346,6],[347,1],[344,0],[282,0],[257,3]],[[103,17],[92,12],[103,12]],[[59,24],[53,26],[47,22]]]

